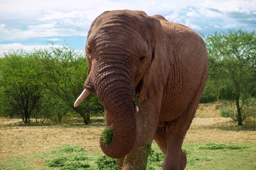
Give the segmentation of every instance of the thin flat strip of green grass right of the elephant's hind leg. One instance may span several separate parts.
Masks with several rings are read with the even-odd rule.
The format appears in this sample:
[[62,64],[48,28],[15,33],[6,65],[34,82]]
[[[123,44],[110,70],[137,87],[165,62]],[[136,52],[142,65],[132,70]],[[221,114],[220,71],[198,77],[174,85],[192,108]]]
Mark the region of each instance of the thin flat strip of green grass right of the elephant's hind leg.
[[246,146],[236,146],[236,145],[226,145],[226,144],[206,144],[204,146],[200,146],[199,149],[208,149],[208,150],[241,150],[247,149]]

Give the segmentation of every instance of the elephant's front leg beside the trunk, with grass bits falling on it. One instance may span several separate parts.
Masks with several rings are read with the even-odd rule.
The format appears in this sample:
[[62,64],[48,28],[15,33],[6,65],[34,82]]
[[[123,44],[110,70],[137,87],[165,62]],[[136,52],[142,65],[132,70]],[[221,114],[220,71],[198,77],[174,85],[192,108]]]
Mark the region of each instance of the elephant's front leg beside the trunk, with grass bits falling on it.
[[[132,151],[126,155],[122,170],[146,170],[151,144],[157,130],[161,99],[162,95],[159,94],[159,98],[155,96],[154,99],[147,99],[143,106],[139,107],[139,113],[136,114],[137,140]],[[159,104],[156,101],[159,101]]]

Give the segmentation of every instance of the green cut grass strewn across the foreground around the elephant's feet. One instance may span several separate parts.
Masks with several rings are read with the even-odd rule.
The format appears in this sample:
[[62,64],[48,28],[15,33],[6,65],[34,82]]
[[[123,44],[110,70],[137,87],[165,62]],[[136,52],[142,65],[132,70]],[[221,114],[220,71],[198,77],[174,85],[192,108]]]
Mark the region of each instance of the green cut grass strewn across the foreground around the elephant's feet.
[[[255,170],[252,145],[184,144],[186,170]],[[147,170],[162,170],[164,155],[153,144]],[[86,153],[79,145],[61,145],[52,152],[0,159],[0,170],[117,170],[116,160]]]

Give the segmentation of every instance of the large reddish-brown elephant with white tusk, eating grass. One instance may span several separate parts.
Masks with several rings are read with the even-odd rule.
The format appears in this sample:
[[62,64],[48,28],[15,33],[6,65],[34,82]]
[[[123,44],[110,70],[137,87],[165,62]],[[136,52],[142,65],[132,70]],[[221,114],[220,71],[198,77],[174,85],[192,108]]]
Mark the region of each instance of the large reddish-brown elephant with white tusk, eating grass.
[[207,49],[195,31],[143,11],[106,11],[85,45],[88,77],[74,103],[90,93],[105,108],[110,142],[100,146],[119,170],[145,170],[152,141],[163,170],[184,170],[182,143],[208,73]]

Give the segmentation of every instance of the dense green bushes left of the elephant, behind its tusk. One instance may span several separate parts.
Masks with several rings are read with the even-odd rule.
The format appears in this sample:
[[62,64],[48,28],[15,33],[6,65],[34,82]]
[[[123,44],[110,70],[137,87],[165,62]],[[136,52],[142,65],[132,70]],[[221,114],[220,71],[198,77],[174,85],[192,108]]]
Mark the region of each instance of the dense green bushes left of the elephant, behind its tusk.
[[87,76],[84,53],[67,46],[10,51],[0,58],[0,66],[0,115],[18,115],[25,123],[31,117],[37,123],[61,123],[70,113],[79,113],[85,124],[90,123],[90,115],[103,115],[96,95],[73,107]]

